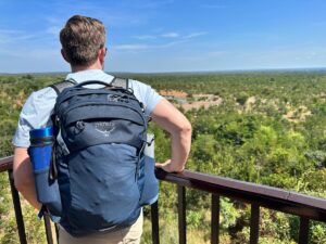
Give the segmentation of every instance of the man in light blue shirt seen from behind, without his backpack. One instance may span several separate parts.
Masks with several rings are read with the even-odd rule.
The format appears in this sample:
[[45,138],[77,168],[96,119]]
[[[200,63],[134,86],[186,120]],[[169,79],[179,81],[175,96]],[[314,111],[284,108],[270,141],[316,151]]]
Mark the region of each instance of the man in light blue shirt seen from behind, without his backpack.
[[[101,80],[110,84],[113,76],[105,74],[104,57],[105,30],[103,24],[95,18],[75,15],[71,17],[60,33],[62,56],[71,65],[67,80],[79,84],[86,80]],[[171,134],[171,159],[158,163],[156,167],[168,172],[180,172],[190,151],[191,125],[167,100],[159,95],[151,87],[130,80],[130,88],[146,108],[145,113]],[[27,154],[29,131],[52,126],[57,93],[52,88],[34,92],[23,106],[13,144],[15,187],[37,209],[41,207],[36,197],[34,176]],[[131,227],[100,235],[76,239],[60,228],[60,244],[65,243],[139,243],[142,232],[142,214]]]

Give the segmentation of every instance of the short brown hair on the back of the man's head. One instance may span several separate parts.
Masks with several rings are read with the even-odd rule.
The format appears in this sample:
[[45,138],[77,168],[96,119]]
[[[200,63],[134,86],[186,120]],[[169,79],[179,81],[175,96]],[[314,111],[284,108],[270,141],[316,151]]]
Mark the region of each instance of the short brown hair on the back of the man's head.
[[60,31],[60,41],[71,65],[88,66],[104,48],[105,28],[102,22],[80,15],[72,16]]

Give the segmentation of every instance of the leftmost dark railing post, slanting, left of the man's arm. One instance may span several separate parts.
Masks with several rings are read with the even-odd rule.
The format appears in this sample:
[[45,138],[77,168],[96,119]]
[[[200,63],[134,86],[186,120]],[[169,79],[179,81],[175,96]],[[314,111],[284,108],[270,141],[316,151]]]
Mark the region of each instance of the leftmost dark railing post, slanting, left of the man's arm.
[[21,244],[27,244],[26,233],[25,233],[25,224],[24,224],[22,206],[21,206],[21,201],[20,201],[20,194],[14,185],[12,170],[8,170],[8,176],[9,176],[9,182],[10,182],[10,188],[11,188],[12,202],[14,205],[14,210],[15,210],[15,216],[16,216],[16,223],[17,223],[17,229],[18,229],[20,241],[21,241]]

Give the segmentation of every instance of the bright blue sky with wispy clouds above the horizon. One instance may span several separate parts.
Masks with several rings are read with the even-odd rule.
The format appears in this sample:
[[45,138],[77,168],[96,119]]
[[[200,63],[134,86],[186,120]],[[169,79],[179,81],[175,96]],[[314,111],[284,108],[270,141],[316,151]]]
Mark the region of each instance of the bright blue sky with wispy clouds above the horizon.
[[74,14],[106,26],[108,72],[326,67],[324,0],[0,0],[0,73],[68,72]]

